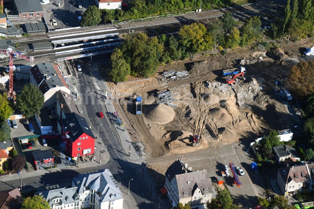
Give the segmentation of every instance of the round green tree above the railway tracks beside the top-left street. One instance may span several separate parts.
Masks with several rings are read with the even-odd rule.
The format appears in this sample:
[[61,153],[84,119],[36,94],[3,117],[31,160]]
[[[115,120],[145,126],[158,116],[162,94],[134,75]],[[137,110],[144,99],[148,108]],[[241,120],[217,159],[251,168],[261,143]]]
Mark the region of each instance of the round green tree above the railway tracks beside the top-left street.
[[89,6],[83,14],[82,26],[98,25],[101,22],[101,11],[96,6]]

